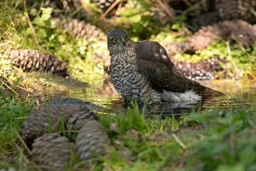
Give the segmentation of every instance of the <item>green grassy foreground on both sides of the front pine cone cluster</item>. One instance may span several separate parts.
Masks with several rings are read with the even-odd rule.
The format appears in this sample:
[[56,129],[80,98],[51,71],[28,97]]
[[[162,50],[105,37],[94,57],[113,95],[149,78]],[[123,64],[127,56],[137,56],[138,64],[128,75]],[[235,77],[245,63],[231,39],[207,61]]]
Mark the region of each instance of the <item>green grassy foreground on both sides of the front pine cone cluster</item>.
[[[1,94],[1,97],[2,94]],[[33,107],[22,97],[0,101],[0,166],[38,170],[19,138]],[[133,104],[127,113],[99,115],[112,151],[92,170],[255,170],[256,108],[230,108],[161,119]],[[63,130],[62,130],[63,131]],[[81,162],[76,158],[74,164]],[[73,170],[68,166],[68,170]]]

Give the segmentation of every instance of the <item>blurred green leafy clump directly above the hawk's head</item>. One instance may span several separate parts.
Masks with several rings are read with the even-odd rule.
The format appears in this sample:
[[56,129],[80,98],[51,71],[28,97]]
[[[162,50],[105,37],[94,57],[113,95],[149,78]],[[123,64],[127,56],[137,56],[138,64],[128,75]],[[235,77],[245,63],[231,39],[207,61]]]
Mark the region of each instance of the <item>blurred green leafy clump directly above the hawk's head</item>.
[[[96,7],[96,4],[89,4],[96,12],[91,16],[91,23],[100,26],[104,31],[111,31],[113,28],[124,28],[129,35],[138,40],[148,39],[151,35],[161,32],[159,28],[170,29],[170,24],[160,24],[160,10],[154,10],[155,5],[148,0],[130,0],[123,3],[123,6],[113,9],[106,16],[106,25],[102,26],[101,15],[103,11]],[[166,16],[168,19],[169,16]],[[158,28],[159,27],[159,28]]]

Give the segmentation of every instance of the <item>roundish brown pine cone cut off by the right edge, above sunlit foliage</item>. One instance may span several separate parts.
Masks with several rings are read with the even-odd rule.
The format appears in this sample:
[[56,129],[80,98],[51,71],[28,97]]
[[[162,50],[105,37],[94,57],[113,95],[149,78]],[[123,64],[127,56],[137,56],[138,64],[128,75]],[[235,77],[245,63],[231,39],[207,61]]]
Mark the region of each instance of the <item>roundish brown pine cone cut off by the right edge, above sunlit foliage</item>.
[[256,41],[253,27],[242,28],[230,34],[230,46],[237,44],[238,48],[248,48]]

